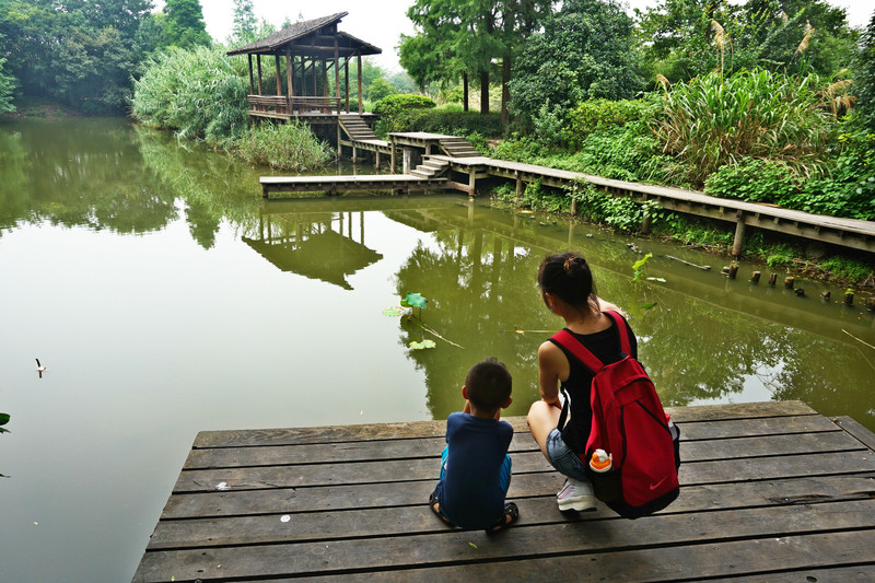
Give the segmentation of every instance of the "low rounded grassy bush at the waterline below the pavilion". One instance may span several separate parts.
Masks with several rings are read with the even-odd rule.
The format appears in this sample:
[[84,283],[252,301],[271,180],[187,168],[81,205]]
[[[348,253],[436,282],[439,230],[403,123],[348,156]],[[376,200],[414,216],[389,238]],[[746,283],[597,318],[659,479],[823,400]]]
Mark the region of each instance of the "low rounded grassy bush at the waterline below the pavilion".
[[312,170],[331,159],[330,149],[310,126],[298,121],[252,127],[231,148],[253,164],[294,171]]

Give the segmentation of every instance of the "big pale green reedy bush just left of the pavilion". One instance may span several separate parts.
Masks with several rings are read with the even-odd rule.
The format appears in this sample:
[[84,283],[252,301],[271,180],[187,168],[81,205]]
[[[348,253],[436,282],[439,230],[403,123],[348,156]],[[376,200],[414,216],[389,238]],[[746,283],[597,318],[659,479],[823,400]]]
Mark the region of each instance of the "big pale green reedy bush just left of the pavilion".
[[248,85],[222,47],[172,47],[147,63],[135,82],[131,113],[183,138],[219,143],[248,126]]

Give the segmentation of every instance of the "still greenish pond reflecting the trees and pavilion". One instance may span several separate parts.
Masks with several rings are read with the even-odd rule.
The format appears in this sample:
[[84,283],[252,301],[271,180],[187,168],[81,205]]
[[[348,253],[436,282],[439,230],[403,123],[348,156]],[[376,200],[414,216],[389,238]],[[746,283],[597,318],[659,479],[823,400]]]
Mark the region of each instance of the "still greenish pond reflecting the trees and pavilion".
[[[198,431],[445,419],[488,355],[525,415],[560,326],[535,273],[569,247],[666,406],[801,399],[875,430],[875,319],[841,290],[462,196],[266,203],[262,174],[120,119],[0,125],[3,580],[130,580]],[[384,314],[408,292],[419,322]]]

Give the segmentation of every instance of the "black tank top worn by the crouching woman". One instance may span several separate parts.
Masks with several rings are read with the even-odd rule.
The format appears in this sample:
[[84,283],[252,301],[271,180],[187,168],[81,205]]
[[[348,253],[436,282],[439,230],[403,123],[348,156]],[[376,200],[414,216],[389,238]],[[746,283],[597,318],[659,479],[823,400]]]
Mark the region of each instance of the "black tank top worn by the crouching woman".
[[[608,316],[609,317],[609,316]],[[638,358],[638,340],[629,327],[629,323],[623,318],[626,328],[629,331],[629,347],[632,351],[632,358]],[[598,358],[603,363],[609,364],[617,362],[622,358],[622,350],[620,349],[620,336],[617,330],[617,325],[611,318],[610,327],[595,334],[576,334],[568,328],[564,328],[574,336],[583,346]],[[552,338],[550,339],[558,346],[568,359],[571,371],[569,372],[568,380],[561,383],[562,388],[569,395],[571,419],[562,429],[562,439],[569,447],[575,453],[585,453],[586,440],[590,438],[590,429],[593,423],[593,408],[590,404],[590,389],[593,384],[593,373],[581,361],[569,352],[563,346],[560,346]]]

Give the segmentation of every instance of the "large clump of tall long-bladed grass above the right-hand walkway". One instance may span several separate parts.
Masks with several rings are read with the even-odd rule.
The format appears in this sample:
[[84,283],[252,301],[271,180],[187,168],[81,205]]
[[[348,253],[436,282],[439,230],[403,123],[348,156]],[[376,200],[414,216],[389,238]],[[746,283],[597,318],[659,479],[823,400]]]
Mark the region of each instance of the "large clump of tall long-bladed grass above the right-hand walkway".
[[695,186],[746,156],[808,174],[822,161],[829,131],[818,84],[817,75],[713,72],[666,88],[654,130],[665,152],[688,162],[681,167]]

